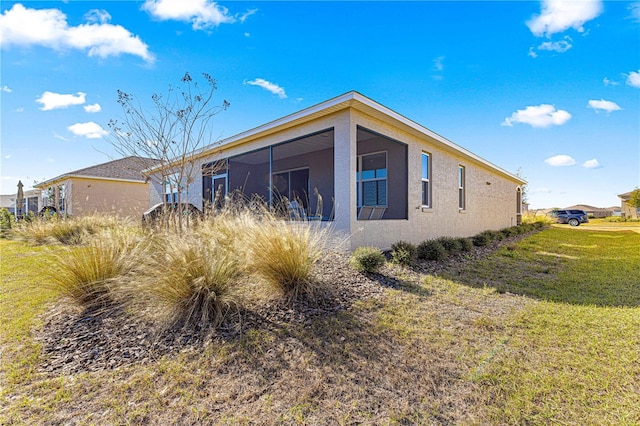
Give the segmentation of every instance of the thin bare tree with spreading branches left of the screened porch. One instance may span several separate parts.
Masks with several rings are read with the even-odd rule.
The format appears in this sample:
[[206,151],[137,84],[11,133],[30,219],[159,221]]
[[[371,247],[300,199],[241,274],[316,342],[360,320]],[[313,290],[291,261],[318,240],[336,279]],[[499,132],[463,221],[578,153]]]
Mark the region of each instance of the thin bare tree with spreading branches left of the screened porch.
[[[185,73],[177,87],[169,86],[166,95],[151,96],[150,109],[145,109],[133,94],[118,90],[124,117],[109,121],[115,150],[140,158],[141,169],[148,168],[149,159],[155,160],[157,165],[147,178],[162,185],[165,207],[168,202],[177,203],[180,213],[188,211],[189,185],[201,173],[193,160],[212,141],[210,121],[230,106],[226,100],[214,104],[216,81],[207,73],[202,76],[206,83],[203,86]],[[169,194],[176,194],[175,199],[164,195],[165,187]],[[183,216],[178,215],[180,231]]]

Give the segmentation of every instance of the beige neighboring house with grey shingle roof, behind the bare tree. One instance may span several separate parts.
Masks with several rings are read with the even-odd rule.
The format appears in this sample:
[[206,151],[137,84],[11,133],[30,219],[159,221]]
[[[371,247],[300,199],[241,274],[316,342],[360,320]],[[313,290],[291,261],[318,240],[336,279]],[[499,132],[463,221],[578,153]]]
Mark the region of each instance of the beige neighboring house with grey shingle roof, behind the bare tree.
[[42,191],[38,209],[52,206],[60,214],[114,214],[142,217],[149,208],[149,184],[142,170],[156,160],[125,157],[65,173],[35,185]]

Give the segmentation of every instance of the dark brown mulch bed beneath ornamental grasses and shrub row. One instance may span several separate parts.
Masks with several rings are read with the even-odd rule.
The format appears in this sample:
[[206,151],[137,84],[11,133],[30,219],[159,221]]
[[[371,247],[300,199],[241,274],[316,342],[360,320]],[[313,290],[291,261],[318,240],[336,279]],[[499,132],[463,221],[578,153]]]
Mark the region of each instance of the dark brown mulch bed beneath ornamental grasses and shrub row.
[[[452,271],[521,238],[523,235],[474,247],[471,252],[441,262],[419,262],[408,272],[437,275]],[[40,370],[65,375],[148,363],[169,354],[197,350],[216,339],[236,339],[251,329],[311,324],[314,319],[348,309],[357,300],[380,298],[385,287],[403,285],[390,275],[353,270],[348,256],[342,253],[328,254],[317,265],[317,275],[325,290],[316,296],[291,303],[273,300],[250,310],[232,312],[214,332],[193,327],[158,331],[152,323],[121,309],[81,311],[59,303],[46,315],[44,327],[36,336],[43,347]]]

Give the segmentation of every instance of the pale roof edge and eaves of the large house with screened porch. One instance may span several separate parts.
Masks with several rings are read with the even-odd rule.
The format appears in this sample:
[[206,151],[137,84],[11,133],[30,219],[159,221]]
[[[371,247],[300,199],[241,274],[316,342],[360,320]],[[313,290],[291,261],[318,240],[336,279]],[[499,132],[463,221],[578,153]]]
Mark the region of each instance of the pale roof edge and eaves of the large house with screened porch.
[[[375,102],[372,99],[367,98],[366,96],[356,92],[350,91],[333,99],[329,99],[327,101],[321,102],[317,105],[311,106],[309,108],[303,109],[301,111],[295,112],[293,114],[287,115],[285,117],[279,118],[277,120],[271,121],[269,123],[263,124],[261,126],[255,127],[251,130],[247,130],[245,132],[239,133],[235,136],[231,136],[229,138],[223,139],[215,144],[207,145],[204,148],[201,148],[198,151],[195,151],[190,154],[190,158],[195,160],[197,158],[209,156],[213,153],[219,152],[221,149],[228,149],[237,145],[242,145],[256,139],[268,136],[273,133],[277,133],[283,131],[285,129],[298,126],[300,124],[316,120],[320,117],[327,116],[329,114],[335,113],[337,111],[346,109],[346,108],[354,108],[358,111],[361,111],[367,115],[378,118],[382,121],[392,122],[395,126],[400,127],[401,129],[407,131],[408,133],[414,134],[418,137],[429,137],[433,139],[437,144],[439,144],[442,148],[450,151],[455,151],[457,154],[462,155],[463,157],[467,157],[468,159],[474,160],[484,166],[492,169],[500,174],[506,175],[509,178],[519,182],[520,184],[525,184],[526,181],[516,176],[513,173],[507,172],[506,170],[492,164],[491,162],[485,160],[484,158],[479,157],[478,155],[468,151],[465,148],[462,148],[459,145],[451,142],[450,140],[438,135],[437,133],[432,132],[426,127],[398,114],[397,112]],[[149,172],[153,172],[154,170],[148,170]]]

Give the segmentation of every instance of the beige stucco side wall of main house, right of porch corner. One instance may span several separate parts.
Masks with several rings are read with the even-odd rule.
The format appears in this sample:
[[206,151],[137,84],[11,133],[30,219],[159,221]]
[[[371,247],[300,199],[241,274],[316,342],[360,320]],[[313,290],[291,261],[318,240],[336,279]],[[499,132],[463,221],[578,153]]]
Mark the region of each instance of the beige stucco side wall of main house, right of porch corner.
[[[486,229],[516,224],[517,182],[483,164],[463,159],[451,150],[439,148],[428,137],[418,138],[361,112],[353,112],[350,125],[407,143],[409,162],[408,219],[358,221],[352,216],[352,248],[361,245],[389,248],[398,240],[417,244],[439,236],[466,237]],[[422,152],[431,154],[432,207],[428,209],[421,207]],[[466,171],[466,208],[463,211],[458,209],[460,165]]]

